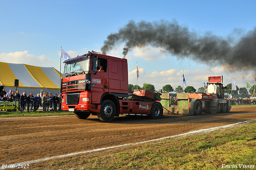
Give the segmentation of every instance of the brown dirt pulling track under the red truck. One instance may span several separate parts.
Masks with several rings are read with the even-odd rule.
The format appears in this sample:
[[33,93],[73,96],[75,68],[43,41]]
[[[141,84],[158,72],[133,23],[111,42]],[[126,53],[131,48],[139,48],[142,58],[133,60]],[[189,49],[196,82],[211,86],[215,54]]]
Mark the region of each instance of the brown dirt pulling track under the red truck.
[[142,142],[204,128],[256,119],[256,106],[226,114],[164,115],[160,119],[121,116],[101,122],[97,116],[0,119],[0,165]]

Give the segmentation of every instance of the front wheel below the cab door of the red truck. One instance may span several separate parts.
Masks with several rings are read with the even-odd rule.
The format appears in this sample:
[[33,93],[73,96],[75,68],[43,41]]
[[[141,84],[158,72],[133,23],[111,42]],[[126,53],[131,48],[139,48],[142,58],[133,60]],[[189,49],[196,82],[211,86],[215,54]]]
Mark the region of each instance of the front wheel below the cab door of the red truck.
[[97,116],[104,122],[110,122],[116,115],[116,106],[111,100],[104,100],[100,106]]

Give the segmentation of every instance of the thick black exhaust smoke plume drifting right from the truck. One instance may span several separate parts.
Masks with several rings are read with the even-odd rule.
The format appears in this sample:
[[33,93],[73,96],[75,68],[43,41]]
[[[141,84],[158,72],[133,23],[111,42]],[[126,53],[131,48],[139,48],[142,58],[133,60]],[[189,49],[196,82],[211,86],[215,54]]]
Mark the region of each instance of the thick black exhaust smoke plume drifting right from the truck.
[[178,58],[190,58],[211,65],[233,65],[236,69],[256,68],[256,28],[241,36],[239,40],[207,32],[199,35],[181,26],[176,20],[138,23],[129,21],[118,33],[108,35],[101,48],[102,54],[125,42],[124,57],[135,46],[153,46],[166,50]]

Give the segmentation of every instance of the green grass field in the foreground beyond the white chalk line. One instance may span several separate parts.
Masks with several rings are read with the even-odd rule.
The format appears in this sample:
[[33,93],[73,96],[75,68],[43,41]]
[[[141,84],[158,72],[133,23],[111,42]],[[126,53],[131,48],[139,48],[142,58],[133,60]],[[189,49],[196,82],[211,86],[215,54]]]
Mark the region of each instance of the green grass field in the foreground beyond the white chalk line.
[[51,160],[39,169],[220,170],[226,165],[244,169],[239,168],[239,164],[256,164],[255,129],[256,123],[251,122],[158,143]]

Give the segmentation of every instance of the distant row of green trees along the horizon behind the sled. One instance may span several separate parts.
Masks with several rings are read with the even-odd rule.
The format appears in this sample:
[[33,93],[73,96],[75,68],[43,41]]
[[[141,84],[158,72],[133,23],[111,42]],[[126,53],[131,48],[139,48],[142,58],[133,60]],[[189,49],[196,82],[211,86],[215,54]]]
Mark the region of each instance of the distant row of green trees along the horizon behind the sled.
[[[231,95],[231,87],[232,84],[227,84],[226,88],[224,88],[224,94],[226,95]],[[206,86],[207,88],[207,86]],[[242,97],[247,97],[248,95],[250,95],[253,91],[254,91],[255,86],[252,86],[252,88],[250,88],[249,92],[245,87],[241,87],[238,88],[238,86],[236,86],[236,90],[232,90],[232,95],[233,96],[242,96]],[[136,90],[137,86],[133,85],[133,84],[129,84],[128,85],[128,91],[133,91]],[[140,87],[138,85],[138,90],[148,90],[150,92],[158,92],[155,90],[155,86],[153,84],[148,84],[148,83],[144,83],[142,87]],[[198,92],[198,93],[204,93],[204,87],[200,87],[198,88],[198,90],[196,90],[193,86],[187,86],[184,90],[182,86],[178,86],[175,89],[173,89],[173,87],[170,84],[166,84],[165,86],[162,87],[162,91],[166,92],[166,93],[170,93],[170,92],[176,92],[176,93],[194,93],[194,92]]]

